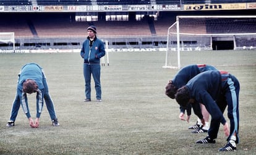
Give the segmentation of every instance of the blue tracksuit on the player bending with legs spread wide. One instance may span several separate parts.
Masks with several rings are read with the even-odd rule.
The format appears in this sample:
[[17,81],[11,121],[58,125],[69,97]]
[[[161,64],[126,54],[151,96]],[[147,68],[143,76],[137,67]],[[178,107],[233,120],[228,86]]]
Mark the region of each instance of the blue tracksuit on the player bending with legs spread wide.
[[22,105],[22,109],[24,113],[27,115],[27,118],[31,117],[30,111],[28,108],[27,94],[22,92],[23,82],[25,82],[25,80],[27,79],[35,80],[36,84],[38,85],[38,90],[40,90],[39,92],[36,93],[36,117],[40,118],[41,112],[43,110],[43,98],[44,98],[51,120],[56,119],[54,104],[51,99],[51,96],[49,95],[48,84],[46,82],[45,73],[43,72],[43,69],[38,64],[30,63],[30,64],[23,65],[22,69],[20,69],[18,83],[17,83],[17,93],[14,99],[14,103],[12,104],[12,112],[11,112],[10,120],[15,121],[20,108],[20,104]]

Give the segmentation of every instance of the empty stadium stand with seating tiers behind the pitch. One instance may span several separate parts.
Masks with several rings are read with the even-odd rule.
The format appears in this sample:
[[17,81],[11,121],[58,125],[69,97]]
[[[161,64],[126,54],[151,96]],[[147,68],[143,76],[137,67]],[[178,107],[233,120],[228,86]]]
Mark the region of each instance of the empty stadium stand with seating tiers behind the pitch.
[[[182,4],[218,4],[226,3],[227,1],[220,0],[17,0],[9,1],[2,0],[0,4],[6,6],[23,6],[23,5],[38,5],[38,6],[75,6],[75,5],[121,5],[127,9],[127,5],[147,5],[147,4],[163,4],[177,5]],[[238,3],[239,0],[231,0],[229,3]],[[255,0],[243,0],[242,2],[255,2]],[[170,7],[171,7],[170,6]],[[32,8],[32,7],[30,7]],[[97,27],[98,36],[102,40],[108,40],[109,46],[123,48],[155,48],[164,47],[168,28],[176,21],[176,15],[225,15],[225,14],[255,14],[255,10],[237,10],[234,11],[203,11],[190,12],[181,10],[157,12],[157,20],[148,15],[151,12],[125,12],[129,17],[129,21],[106,21],[106,15],[112,12],[84,12],[84,15],[96,14],[98,21],[76,22],[75,12],[2,12],[0,14],[0,32],[14,32],[15,41],[20,46],[17,48],[27,49],[47,49],[47,48],[80,48],[83,40],[87,36],[86,28],[93,24]],[[83,13],[83,12],[82,12]],[[115,14],[116,12],[114,12]],[[122,12],[124,13],[124,12]],[[136,20],[136,15],[144,14],[142,20]],[[155,14],[155,12],[153,12]],[[142,16],[141,16],[142,17]],[[156,18],[156,17],[155,17]],[[232,19],[234,20],[234,19]],[[236,19],[235,19],[236,20]],[[180,32],[186,33],[255,33],[256,22],[254,20],[237,20],[236,27],[230,21],[216,22],[207,20],[203,24],[194,23],[193,20],[187,21],[187,26],[180,27]],[[247,23],[247,24],[244,24]],[[245,26],[246,25],[246,26]],[[193,42],[196,40],[191,39]],[[198,41],[199,42],[199,41]],[[237,38],[237,44],[252,44],[255,40],[252,38]],[[70,45],[70,46],[69,46]],[[74,46],[75,45],[75,46]],[[196,44],[195,44],[196,46]],[[0,49],[4,47],[0,44]]]

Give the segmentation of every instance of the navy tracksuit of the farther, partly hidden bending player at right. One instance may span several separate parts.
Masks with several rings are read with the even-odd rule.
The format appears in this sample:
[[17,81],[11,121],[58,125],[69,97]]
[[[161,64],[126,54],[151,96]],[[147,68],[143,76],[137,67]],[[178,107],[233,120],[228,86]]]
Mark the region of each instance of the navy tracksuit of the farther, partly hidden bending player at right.
[[[187,82],[198,73],[205,72],[207,70],[216,70],[215,67],[211,65],[205,65],[205,64],[197,64],[197,65],[187,65],[185,67],[182,67],[179,72],[174,76],[172,82],[174,86],[179,89],[182,86],[186,85]],[[190,104],[188,104],[189,107],[187,107],[187,115],[191,115],[191,107]],[[194,106],[194,105],[192,105]],[[180,107],[181,112],[185,113],[185,109]],[[202,119],[202,117],[200,118]]]

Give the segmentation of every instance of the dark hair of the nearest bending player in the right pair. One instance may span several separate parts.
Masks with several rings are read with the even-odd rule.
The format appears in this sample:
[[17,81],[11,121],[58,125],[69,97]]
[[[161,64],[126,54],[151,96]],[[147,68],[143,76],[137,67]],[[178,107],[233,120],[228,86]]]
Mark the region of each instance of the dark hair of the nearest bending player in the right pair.
[[177,90],[175,99],[177,103],[183,107],[184,109],[187,108],[187,104],[189,104],[189,99],[190,99],[190,94],[189,94],[189,89],[187,86],[182,86]]

